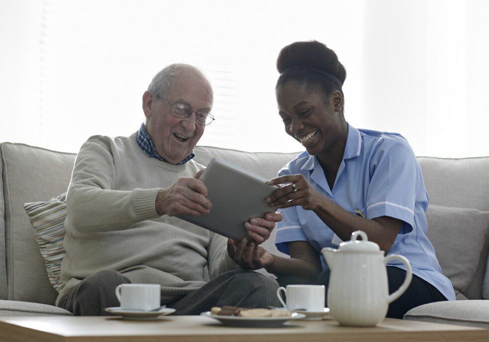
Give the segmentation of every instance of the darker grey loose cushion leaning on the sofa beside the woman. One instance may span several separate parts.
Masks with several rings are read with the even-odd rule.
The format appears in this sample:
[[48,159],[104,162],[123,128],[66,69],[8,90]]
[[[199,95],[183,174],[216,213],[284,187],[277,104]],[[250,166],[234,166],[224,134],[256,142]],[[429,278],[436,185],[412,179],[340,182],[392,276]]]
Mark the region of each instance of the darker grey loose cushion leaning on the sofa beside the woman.
[[[489,212],[430,205],[427,236],[443,274],[458,299],[482,299],[482,282],[489,252]],[[472,286],[472,287],[471,287]]]

